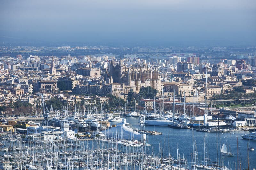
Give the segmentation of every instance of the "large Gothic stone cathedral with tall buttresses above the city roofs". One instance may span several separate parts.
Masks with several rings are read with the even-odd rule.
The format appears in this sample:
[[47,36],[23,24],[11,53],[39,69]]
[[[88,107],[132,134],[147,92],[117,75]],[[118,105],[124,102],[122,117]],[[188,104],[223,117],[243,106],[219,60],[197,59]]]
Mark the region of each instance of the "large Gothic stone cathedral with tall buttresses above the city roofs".
[[111,60],[108,69],[105,70],[104,78],[107,84],[119,83],[125,85],[125,88],[135,89],[136,92],[141,87],[148,86],[161,90],[161,81],[157,68],[145,66],[126,67],[122,64],[121,59],[116,66]]

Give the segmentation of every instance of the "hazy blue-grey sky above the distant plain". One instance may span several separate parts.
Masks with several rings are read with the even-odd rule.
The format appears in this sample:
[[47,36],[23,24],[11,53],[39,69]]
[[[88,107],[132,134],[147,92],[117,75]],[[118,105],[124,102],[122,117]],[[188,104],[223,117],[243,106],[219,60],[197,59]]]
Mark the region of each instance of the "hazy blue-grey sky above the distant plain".
[[255,43],[256,1],[0,0],[0,23],[2,38],[38,41]]

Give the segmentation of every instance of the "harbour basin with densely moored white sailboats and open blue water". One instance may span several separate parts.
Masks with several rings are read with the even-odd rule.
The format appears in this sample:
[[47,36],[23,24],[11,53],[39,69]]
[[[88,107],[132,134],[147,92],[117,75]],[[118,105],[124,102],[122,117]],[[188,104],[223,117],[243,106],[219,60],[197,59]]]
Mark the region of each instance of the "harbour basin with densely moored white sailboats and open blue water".
[[[138,119],[138,117],[126,117],[125,121],[132,127],[139,128]],[[112,125],[115,128],[120,127],[122,123]],[[239,137],[244,134],[243,131],[201,133],[193,128],[172,129],[162,126],[146,126],[146,130],[159,131],[162,135],[147,135],[145,140],[144,137],[140,140],[130,135],[131,138],[127,140],[124,136],[112,138],[113,135],[102,131],[102,133],[94,133],[92,140],[69,142],[46,140],[32,143],[22,142],[20,136],[2,136],[1,156],[2,160],[10,162],[10,165],[16,169],[131,169],[131,167],[134,169],[192,169],[194,167],[204,169],[204,160],[207,158],[211,160],[206,161],[207,168],[234,169],[237,162],[236,156],[223,156],[220,150],[222,141],[224,143],[228,141],[228,147],[236,151],[238,136],[239,162],[246,165],[248,140]],[[115,134],[117,132],[115,129],[112,131]],[[105,135],[108,137],[106,138]],[[129,135],[126,138],[129,138]],[[215,141],[212,138],[215,138]],[[194,150],[193,140],[196,141],[196,148],[198,148],[196,154],[192,154],[192,157],[196,155],[196,163],[191,161],[191,153]],[[250,140],[250,145],[255,147],[255,140]],[[204,147],[207,148],[207,152],[199,149]],[[204,153],[207,153],[205,159]],[[256,156],[252,150],[249,154],[251,158]],[[254,161],[250,161],[250,164],[252,167],[256,166]]]

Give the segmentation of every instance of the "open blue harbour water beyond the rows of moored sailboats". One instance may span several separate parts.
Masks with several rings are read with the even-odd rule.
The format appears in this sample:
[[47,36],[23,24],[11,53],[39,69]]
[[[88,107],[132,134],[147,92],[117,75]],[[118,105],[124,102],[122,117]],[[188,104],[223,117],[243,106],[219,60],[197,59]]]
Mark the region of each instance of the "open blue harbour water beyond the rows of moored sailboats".
[[[139,126],[138,118],[126,117],[126,121],[132,124],[134,128]],[[184,154],[188,163],[191,163],[191,153],[193,152],[192,129],[172,129],[165,126],[147,126],[149,131],[162,132],[162,135],[148,135],[147,142],[152,144],[154,152],[158,153],[162,148],[164,156],[168,156],[168,150],[176,157],[177,147],[180,154]],[[199,163],[204,164],[204,137],[206,155],[209,155],[212,162],[217,162],[217,158],[223,160],[224,165],[229,169],[237,167],[237,137],[238,137],[238,156],[239,164],[241,160],[241,168],[247,168],[247,143],[249,140],[243,139],[240,135],[249,133],[248,131],[237,131],[227,133],[204,133],[193,130],[194,140],[196,141]],[[230,145],[233,157],[221,156],[220,149],[223,143]],[[161,145],[161,147],[160,147]],[[256,148],[256,141],[250,140],[251,147]],[[217,155],[218,154],[218,155]],[[249,151],[250,169],[256,168],[256,151]],[[240,159],[241,158],[241,159]],[[200,160],[202,160],[200,162]],[[232,167],[233,166],[233,167]]]

